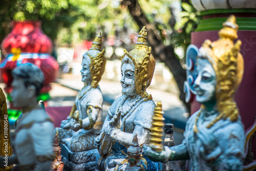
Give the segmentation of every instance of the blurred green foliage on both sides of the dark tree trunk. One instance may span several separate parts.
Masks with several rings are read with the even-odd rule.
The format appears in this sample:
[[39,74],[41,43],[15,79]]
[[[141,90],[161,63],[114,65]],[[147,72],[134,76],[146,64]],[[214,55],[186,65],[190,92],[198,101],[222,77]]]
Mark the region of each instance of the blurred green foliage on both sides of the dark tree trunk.
[[[195,30],[199,17],[187,3],[181,20],[174,26],[170,5],[178,0],[139,0],[147,19],[154,23],[165,45],[186,48],[190,33]],[[10,32],[11,20],[42,20],[42,30],[56,45],[75,45],[91,40],[97,32],[115,35],[126,27],[138,32],[139,27],[118,0],[1,0],[0,42]],[[174,19],[175,20],[175,19]]]

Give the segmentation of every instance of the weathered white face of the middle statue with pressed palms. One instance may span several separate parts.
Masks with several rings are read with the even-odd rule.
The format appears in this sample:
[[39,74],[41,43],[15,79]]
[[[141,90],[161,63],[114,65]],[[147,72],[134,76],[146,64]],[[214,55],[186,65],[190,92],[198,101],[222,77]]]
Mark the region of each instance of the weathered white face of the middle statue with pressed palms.
[[123,63],[121,67],[122,93],[129,96],[136,95],[134,66],[130,63]]

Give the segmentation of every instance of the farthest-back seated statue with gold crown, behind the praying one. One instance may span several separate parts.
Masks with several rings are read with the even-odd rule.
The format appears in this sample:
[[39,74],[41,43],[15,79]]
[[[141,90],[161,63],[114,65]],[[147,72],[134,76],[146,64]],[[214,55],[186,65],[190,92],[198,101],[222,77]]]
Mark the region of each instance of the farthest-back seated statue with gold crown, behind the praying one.
[[99,33],[95,36],[92,47],[83,54],[80,72],[84,87],[76,97],[70,116],[61,122],[60,128],[56,128],[62,154],[65,154],[62,158],[65,169],[95,170],[96,167],[94,154],[97,149],[94,147],[94,140],[100,134],[103,124],[103,97],[98,82],[106,62],[101,44],[102,37]]

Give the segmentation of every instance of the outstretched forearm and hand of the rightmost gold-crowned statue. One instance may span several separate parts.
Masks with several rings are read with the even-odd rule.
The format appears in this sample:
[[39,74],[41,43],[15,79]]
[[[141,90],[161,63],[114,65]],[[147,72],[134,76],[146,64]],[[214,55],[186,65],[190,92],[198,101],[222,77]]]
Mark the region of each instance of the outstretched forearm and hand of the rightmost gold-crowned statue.
[[162,162],[167,163],[172,156],[173,151],[170,150],[169,147],[164,146],[161,152],[155,152],[150,146],[144,145],[143,146],[143,153],[146,157],[150,158],[152,161],[155,162]]

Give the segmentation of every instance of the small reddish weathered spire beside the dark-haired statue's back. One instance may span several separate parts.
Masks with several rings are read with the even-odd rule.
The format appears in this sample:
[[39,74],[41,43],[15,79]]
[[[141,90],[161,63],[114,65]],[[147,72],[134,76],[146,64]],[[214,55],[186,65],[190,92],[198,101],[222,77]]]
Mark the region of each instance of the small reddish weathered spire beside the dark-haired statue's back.
[[64,168],[64,163],[61,161],[61,147],[59,146],[57,134],[55,135],[55,138],[53,141],[53,153],[54,153],[54,158],[52,162],[52,170],[62,171]]

